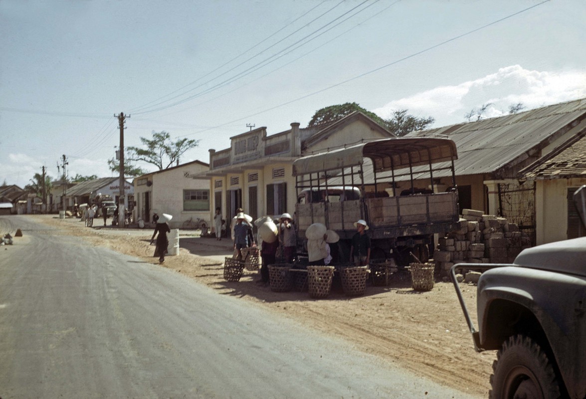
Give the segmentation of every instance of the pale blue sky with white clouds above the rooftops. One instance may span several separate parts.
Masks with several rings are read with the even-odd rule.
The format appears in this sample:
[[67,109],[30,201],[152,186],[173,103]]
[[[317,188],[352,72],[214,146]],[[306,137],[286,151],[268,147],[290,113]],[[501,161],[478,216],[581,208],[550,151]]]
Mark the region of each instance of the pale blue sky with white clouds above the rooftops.
[[[117,176],[125,146],[306,127],[358,103],[431,127],[586,97],[584,0],[0,0],[0,185]],[[152,171],[155,166],[140,164]]]

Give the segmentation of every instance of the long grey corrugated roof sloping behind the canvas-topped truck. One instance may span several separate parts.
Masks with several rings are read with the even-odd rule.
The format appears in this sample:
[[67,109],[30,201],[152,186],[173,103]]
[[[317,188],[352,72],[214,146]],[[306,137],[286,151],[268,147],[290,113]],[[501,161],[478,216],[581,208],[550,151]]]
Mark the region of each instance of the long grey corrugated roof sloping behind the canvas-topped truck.
[[[493,173],[539,148],[586,114],[586,98],[478,122],[411,132],[407,137],[448,137],[456,143],[456,176]],[[437,176],[442,177],[442,176]]]

